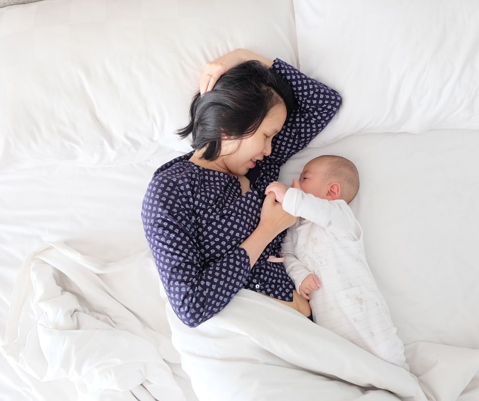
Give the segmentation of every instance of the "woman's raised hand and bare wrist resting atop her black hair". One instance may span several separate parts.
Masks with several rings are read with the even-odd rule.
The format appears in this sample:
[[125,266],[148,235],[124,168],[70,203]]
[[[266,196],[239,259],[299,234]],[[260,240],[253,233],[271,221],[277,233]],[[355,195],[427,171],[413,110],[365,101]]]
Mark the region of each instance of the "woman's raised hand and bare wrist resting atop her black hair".
[[248,60],[258,60],[267,67],[273,65],[273,61],[262,55],[245,49],[235,49],[206,64],[200,77],[200,94],[203,95],[205,92],[211,91],[225,72]]

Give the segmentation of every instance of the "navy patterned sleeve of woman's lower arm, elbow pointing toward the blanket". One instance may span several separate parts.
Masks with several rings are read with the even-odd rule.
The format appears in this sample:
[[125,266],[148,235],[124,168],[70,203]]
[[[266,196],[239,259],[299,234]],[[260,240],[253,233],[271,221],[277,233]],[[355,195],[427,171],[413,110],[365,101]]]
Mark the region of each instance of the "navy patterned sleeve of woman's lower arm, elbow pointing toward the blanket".
[[202,260],[194,217],[178,201],[186,197],[170,196],[166,185],[158,197],[155,182],[158,184],[157,179],[150,183],[143,201],[146,239],[174,312],[185,325],[196,327],[222,310],[243,288],[250,274],[250,259],[247,251],[237,246],[220,260]]

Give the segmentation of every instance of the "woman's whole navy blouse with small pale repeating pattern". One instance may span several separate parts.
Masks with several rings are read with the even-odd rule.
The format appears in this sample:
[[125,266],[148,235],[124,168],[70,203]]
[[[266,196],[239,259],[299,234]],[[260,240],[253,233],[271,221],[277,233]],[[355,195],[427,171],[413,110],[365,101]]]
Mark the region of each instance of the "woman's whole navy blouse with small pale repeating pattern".
[[248,171],[250,190],[221,171],[198,166],[193,152],[159,167],[146,191],[142,220],[159,275],[178,318],[190,327],[210,319],[242,288],[292,301],[294,284],[279,256],[279,234],[250,269],[240,245],[259,223],[264,190],[279,169],[305,148],[337,112],[339,95],[289,64],[276,59],[271,67],[288,81],[297,107],[273,138],[272,152]]

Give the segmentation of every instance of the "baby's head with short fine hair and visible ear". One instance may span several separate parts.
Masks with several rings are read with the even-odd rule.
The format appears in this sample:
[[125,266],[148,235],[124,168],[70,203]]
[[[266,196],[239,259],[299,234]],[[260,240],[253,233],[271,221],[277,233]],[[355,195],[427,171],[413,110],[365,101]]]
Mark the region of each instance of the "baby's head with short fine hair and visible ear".
[[319,156],[306,163],[299,186],[316,197],[350,203],[359,189],[358,170],[344,157]]

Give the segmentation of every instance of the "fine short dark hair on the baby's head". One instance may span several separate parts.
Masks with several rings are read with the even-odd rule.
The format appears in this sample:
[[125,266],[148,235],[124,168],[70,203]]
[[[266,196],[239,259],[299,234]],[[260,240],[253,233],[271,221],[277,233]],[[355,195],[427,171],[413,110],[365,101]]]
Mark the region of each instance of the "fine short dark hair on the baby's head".
[[341,156],[325,155],[315,159],[326,159],[328,172],[325,179],[338,181],[341,185],[341,199],[350,203],[359,190],[358,169],[354,163]]

